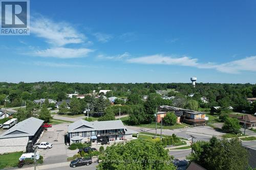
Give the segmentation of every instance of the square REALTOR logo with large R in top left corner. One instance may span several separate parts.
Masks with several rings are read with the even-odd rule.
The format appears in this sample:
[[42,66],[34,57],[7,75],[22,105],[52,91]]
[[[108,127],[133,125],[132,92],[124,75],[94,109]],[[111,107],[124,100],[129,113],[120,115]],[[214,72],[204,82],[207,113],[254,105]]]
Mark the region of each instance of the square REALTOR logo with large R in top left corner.
[[29,35],[29,1],[1,0],[1,35]]

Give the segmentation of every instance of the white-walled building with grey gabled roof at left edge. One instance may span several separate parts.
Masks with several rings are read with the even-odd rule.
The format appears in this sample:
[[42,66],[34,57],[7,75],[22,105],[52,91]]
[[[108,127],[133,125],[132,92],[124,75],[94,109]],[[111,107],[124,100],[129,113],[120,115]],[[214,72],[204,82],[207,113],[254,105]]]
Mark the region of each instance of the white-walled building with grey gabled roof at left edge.
[[43,123],[44,120],[30,117],[5,131],[0,135],[0,154],[25,152],[28,143],[33,145],[40,136]]

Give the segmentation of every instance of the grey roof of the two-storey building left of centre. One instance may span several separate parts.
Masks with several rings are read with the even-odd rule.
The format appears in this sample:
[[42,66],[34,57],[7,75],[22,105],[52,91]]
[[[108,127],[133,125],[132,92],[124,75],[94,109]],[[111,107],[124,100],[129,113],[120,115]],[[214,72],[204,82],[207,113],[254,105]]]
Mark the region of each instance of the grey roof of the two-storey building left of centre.
[[126,129],[121,120],[88,122],[80,119],[69,125],[69,132],[97,131],[110,129]]

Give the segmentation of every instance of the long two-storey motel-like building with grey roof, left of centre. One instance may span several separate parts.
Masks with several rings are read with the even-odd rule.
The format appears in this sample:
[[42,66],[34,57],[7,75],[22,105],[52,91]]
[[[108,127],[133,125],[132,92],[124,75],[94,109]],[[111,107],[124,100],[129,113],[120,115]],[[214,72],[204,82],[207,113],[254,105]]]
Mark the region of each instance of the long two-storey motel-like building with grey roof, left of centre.
[[132,139],[132,135],[137,133],[127,129],[121,120],[88,122],[80,119],[68,127],[70,143],[92,142],[92,144],[96,144],[102,141],[114,142]]

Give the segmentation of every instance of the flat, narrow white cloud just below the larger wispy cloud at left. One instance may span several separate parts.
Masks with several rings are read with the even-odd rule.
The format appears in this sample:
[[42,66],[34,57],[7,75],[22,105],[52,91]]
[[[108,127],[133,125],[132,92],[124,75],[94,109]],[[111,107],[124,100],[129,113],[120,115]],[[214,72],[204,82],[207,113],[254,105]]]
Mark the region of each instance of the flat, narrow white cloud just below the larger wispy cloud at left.
[[93,52],[88,48],[65,48],[65,47],[53,47],[46,50],[37,50],[32,53],[33,56],[39,57],[56,57],[56,58],[80,58],[87,57],[87,54]]

